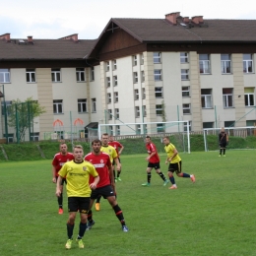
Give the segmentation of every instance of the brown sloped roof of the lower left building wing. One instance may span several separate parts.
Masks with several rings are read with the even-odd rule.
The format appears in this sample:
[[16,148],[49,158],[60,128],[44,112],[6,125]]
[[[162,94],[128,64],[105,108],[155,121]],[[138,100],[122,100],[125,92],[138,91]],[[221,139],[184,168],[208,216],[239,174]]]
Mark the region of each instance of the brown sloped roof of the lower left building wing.
[[29,43],[20,43],[21,39],[12,38],[11,41],[0,40],[0,61],[1,59],[83,59],[96,40],[78,40],[72,39],[33,39]]

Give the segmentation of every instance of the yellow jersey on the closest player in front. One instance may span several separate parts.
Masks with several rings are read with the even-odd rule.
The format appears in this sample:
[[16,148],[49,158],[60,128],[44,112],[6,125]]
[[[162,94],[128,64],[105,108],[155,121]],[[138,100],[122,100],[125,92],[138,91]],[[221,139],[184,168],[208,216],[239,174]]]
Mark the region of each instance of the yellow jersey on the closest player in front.
[[68,197],[90,197],[92,193],[89,186],[90,175],[98,176],[95,166],[87,160],[67,161],[58,174],[62,178],[66,177]]

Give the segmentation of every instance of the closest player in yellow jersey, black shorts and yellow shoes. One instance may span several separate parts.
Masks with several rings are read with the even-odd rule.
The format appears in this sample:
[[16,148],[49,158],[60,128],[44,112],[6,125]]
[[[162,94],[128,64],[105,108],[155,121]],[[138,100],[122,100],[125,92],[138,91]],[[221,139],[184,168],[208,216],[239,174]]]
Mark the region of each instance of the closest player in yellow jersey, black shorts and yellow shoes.
[[[61,195],[62,179],[66,177],[67,181],[67,196],[69,219],[67,223],[68,240],[66,249],[70,249],[73,240],[73,229],[77,212],[80,212],[80,225],[77,242],[79,248],[84,248],[82,237],[87,229],[88,211],[90,206],[90,197],[92,189],[96,189],[96,184],[99,181],[99,176],[96,172],[95,166],[83,159],[83,147],[76,145],[74,147],[74,160],[67,161],[59,170],[59,178],[57,180],[56,196]],[[90,175],[95,177],[93,183],[89,183]]]

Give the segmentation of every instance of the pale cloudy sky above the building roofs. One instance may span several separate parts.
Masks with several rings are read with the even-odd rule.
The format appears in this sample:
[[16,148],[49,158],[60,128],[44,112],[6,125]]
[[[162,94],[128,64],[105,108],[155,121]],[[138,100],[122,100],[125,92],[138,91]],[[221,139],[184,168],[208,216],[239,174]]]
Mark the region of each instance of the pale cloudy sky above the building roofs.
[[173,12],[190,18],[254,20],[256,4],[255,0],[0,0],[0,35],[57,39],[78,33],[80,39],[95,39],[111,18],[164,19]]

